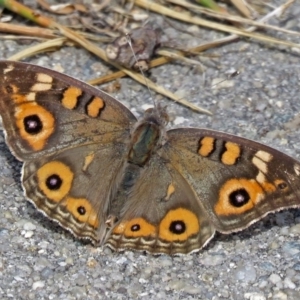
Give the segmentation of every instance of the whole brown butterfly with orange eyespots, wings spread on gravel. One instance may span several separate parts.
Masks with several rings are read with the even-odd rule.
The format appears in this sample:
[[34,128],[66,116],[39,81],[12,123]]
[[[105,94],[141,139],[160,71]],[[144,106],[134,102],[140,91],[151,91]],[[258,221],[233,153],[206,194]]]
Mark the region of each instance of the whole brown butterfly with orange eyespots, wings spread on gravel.
[[0,61],[6,142],[39,211],[114,250],[190,253],[300,206],[300,164],[265,145],[200,128],[166,130],[82,81]]

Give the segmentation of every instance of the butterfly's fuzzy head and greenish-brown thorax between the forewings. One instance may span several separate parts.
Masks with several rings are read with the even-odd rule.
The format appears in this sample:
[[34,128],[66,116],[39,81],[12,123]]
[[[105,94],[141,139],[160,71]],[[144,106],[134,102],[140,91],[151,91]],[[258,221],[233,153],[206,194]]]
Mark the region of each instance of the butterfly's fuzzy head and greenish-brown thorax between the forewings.
[[138,166],[147,163],[151,154],[164,143],[167,122],[165,107],[158,106],[145,111],[144,118],[137,122],[131,134],[129,163]]

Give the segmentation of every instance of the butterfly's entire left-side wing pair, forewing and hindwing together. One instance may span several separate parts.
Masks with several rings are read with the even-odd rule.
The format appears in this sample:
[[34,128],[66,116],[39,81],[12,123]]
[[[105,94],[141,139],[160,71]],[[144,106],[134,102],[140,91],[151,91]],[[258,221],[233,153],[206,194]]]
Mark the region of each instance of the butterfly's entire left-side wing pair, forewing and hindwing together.
[[101,239],[135,117],[104,92],[30,64],[0,61],[0,91],[26,196],[76,236]]

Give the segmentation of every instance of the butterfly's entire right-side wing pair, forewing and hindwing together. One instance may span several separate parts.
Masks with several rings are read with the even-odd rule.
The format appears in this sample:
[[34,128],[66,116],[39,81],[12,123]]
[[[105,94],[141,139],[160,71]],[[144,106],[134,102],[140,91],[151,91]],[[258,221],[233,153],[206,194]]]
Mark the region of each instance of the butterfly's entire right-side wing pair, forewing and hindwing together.
[[107,240],[113,249],[189,253],[216,230],[238,231],[269,212],[300,206],[296,160],[221,132],[170,130],[139,172]]

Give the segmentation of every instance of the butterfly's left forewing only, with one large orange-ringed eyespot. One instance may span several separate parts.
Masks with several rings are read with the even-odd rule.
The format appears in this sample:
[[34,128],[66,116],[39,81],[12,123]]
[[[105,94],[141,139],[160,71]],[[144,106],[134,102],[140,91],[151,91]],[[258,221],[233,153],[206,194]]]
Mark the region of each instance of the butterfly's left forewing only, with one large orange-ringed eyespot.
[[67,75],[0,61],[0,112],[21,160],[91,143],[124,142],[136,118],[119,101]]

